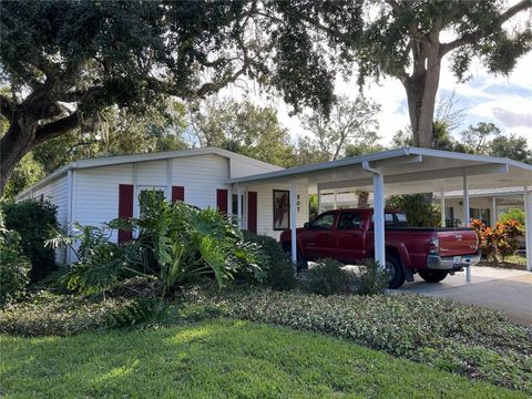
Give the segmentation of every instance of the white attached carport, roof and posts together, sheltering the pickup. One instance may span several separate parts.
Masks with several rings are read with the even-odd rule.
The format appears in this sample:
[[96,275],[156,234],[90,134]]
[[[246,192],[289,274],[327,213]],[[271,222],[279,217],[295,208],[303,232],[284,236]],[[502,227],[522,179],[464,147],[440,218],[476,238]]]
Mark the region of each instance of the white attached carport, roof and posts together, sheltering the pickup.
[[[374,193],[375,259],[386,259],[385,197],[398,194],[463,192],[463,221],[469,221],[469,190],[523,187],[526,213],[526,269],[532,272],[532,165],[509,158],[446,151],[405,147],[307,166],[231,180],[234,193],[249,185],[289,186],[291,257],[297,259],[296,195],[306,186],[309,194],[329,190],[362,190]],[[442,195],[443,196],[443,195]],[[237,215],[242,215],[238,195]],[[242,226],[242,219],[241,219]],[[243,226],[244,227],[244,226]]]

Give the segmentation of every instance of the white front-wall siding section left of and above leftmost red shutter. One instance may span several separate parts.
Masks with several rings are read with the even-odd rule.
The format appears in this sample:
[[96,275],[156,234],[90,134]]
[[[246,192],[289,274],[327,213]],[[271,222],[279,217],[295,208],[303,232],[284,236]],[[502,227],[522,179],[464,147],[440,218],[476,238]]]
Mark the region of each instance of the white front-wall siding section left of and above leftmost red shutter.
[[119,184],[133,184],[133,164],[78,170],[75,176],[72,222],[95,226],[119,216]]

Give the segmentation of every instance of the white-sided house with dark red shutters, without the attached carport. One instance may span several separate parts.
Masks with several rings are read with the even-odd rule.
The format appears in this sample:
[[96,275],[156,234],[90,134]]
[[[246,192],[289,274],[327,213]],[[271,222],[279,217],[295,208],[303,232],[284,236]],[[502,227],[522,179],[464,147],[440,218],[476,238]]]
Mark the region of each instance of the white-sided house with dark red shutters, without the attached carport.
[[[63,227],[74,222],[99,225],[119,216],[137,216],[139,195],[147,190],[158,190],[167,200],[236,214],[237,194],[229,193],[227,181],[280,170],[221,149],[109,156],[72,162],[23,191],[17,200],[50,201],[58,206],[58,219]],[[241,209],[245,226],[277,237],[280,232],[274,232],[274,190],[287,188],[288,185],[274,184],[262,187],[260,193],[243,190]],[[301,204],[307,204],[306,193],[301,195]],[[304,208],[298,224],[308,218],[308,207]],[[113,232],[110,239],[129,238],[126,232]],[[71,256],[65,250],[57,253],[60,263],[70,263]]]

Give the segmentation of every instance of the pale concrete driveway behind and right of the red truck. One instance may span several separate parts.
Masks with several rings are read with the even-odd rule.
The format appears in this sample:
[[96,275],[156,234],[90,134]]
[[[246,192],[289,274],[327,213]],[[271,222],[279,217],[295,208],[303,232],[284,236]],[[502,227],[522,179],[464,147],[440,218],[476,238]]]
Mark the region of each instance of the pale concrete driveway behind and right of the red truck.
[[471,283],[466,283],[466,273],[457,273],[436,284],[415,277],[413,283],[406,283],[393,293],[416,293],[479,305],[501,310],[518,324],[532,326],[531,272],[473,266]]

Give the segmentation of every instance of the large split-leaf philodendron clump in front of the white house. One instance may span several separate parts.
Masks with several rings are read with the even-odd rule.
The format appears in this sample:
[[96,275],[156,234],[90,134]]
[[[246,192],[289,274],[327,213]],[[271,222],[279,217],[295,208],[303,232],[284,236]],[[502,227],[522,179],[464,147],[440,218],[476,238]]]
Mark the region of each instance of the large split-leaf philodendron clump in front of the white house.
[[[226,215],[167,202],[155,191],[144,194],[139,218],[119,218],[103,227],[78,226],[73,236],[60,234],[49,242],[70,246],[79,258],[64,277],[69,288],[95,294],[134,275],[156,276],[164,298],[206,275],[214,276],[221,287],[236,274],[258,282],[264,278],[258,248],[244,241]],[[110,243],[116,228],[135,229],[139,237],[122,245]]]

